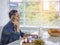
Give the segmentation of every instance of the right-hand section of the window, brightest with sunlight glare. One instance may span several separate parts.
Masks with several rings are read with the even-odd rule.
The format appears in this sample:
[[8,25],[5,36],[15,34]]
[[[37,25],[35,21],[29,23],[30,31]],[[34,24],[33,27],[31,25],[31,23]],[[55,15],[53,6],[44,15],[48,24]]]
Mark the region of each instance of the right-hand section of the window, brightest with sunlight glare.
[[44,0],[42,6],[42,25],[43,26],[60,26],[60,9],[59,0]]

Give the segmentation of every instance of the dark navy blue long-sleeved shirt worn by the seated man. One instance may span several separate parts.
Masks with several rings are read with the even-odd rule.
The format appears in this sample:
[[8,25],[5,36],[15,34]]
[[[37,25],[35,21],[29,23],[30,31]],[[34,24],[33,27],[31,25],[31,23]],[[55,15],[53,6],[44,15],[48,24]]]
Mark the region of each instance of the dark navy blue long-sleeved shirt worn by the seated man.
[[14,25],[11,21],[9,21],[2,30],[2,36],[1,36],[1,45],[6,45],[8,43],[11,43],[15,40],[18,40],[19,37],[23,37],[24,33],[20,31],[15,32],[14,31]]

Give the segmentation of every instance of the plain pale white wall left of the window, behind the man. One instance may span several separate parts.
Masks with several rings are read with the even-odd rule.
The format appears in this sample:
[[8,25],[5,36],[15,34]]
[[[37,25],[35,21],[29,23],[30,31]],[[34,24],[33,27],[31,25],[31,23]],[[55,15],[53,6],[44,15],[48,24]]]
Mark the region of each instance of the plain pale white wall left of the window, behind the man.
[[0,0],[0,26],[4,26],[8,21],[9,0]]

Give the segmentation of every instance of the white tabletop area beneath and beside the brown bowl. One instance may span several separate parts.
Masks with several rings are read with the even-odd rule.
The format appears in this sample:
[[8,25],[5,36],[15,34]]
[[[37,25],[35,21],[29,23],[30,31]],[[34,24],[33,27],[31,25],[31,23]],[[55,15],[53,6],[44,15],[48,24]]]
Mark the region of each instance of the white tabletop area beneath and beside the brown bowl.
[[46,45],[60,45],[60,37],[51,37],[46,30],[43,30],[42,39]]

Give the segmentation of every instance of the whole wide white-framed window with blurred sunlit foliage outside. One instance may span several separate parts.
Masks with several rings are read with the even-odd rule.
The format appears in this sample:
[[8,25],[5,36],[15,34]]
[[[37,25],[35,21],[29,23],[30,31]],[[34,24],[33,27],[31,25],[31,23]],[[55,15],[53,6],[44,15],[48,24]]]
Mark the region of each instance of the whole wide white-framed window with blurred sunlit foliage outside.
[[22,26],[60,26],[59,0],[10,0],[17,9]]

